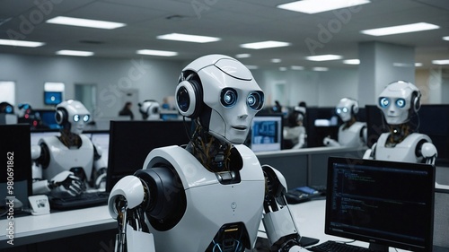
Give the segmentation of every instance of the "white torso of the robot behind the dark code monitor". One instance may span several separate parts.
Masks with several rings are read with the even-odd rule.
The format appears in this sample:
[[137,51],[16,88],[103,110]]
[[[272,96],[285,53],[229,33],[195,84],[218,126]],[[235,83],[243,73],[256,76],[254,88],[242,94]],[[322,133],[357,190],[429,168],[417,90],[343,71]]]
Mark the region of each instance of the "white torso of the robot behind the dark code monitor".
[[416,154],[418,143],[432,143],[427,135],[413,133],[394,147],[386,147],[389,135],[390,133],[383,133],[379,136],[375,147],[375,160],[421,162],[423,158]]

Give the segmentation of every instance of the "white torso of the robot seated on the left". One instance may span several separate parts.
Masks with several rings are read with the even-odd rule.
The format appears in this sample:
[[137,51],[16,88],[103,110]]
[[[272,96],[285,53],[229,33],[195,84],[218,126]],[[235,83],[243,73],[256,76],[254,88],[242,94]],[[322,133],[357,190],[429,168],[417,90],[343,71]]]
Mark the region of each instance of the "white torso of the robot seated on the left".
[[56,136],[40,139],[39,144],[48,146],[49,163],[43,169],[44,178],[53,178],[65,170],[83,169],[86,179],[91,178],[93,165],[93,145],[85,135],[80,135],[82,145],[80,148],[67,148]]

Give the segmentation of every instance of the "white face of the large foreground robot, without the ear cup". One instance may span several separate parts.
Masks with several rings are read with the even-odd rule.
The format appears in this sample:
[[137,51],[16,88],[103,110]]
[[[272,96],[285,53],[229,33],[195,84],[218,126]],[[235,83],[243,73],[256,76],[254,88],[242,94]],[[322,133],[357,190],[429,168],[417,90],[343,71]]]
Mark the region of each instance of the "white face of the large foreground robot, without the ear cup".
[[198,71],[203,101],[211,109],[211,135],[228,143],[246,140],[252,118],[262,109],[264,94],[250,70],[237,60],[223,56],[214,65]]

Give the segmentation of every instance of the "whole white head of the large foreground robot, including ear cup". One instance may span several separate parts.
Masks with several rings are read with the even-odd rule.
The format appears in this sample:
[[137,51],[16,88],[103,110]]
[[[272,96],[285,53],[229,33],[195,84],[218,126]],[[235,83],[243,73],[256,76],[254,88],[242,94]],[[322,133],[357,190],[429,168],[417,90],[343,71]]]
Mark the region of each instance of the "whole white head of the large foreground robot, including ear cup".
[[180,114],[198,118],[210,135],[240,144],[263,107],[264,94],[242,63],[230,56],[209,55],[182,70],[175,100]]

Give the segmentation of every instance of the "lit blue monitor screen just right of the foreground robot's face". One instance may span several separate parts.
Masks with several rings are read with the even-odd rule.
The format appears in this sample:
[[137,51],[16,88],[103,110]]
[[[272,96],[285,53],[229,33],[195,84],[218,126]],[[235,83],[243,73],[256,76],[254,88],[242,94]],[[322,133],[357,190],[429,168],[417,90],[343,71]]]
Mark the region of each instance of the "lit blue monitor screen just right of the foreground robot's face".
[[282,150],[282,115],[256,115],[251,123],[251,150],[271,152]]

